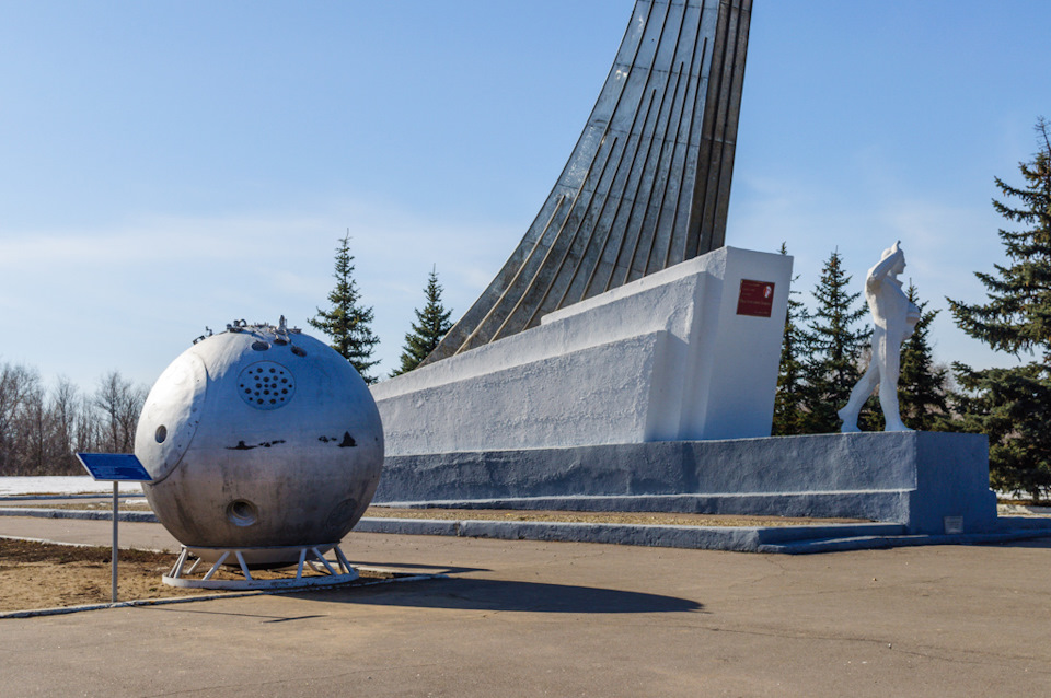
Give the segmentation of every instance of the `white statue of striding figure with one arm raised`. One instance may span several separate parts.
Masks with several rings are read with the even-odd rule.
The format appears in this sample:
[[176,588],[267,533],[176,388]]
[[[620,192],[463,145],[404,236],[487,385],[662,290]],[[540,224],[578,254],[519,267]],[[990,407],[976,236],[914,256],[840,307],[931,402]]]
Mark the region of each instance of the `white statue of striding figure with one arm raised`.
[[901,372],[901,342],[908,339],[920,321],[920,309],[901,290],[898,275],[905,270],[901,241],[883,251],[879,264],[865,277],[865,300],[873,311],[873,358],[851,399],[838,414],[843,433],[859,431],[857,415],[862,405],[879,386],[879,406],[883,409],[886,431],[912,431],[901,421],[898,409],[898,375]]

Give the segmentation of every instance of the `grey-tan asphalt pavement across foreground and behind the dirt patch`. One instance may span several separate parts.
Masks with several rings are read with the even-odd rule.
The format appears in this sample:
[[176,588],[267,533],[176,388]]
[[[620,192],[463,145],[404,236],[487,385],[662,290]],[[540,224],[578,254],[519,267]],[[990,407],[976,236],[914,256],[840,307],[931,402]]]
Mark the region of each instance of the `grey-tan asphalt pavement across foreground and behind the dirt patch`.
[[[108,544],[109,524],[0,535]],[[123,542],[173,547],[157,524]],[[0,696],[1051,694],[1051,540],[815,556],[351,534],[381,588],[0,620]]]

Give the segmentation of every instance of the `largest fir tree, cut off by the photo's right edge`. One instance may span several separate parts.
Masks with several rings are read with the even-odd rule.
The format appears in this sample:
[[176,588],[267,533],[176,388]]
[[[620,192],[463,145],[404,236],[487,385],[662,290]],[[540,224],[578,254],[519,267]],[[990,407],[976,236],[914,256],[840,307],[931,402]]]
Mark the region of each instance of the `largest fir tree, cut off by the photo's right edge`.
[[1020,230],[1001,230],[1008,266],[975,272],[988,302],[949,300],[956,324],[995,350],[1035,357],[1008,369],[975,371],[955,363],[965,389],[959,408],[963,429],[989,435],[992,484],[1033,499],[1051,488],[1051,125],[1037,121],[1039,150],[1019,163],[1024,184],[998,177],[1005,200],[993,207]]

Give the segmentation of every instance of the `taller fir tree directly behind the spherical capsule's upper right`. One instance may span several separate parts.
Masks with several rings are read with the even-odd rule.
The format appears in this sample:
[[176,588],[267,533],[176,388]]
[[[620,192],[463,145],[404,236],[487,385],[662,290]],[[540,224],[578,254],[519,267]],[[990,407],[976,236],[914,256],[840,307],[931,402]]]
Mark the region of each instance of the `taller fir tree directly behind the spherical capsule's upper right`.
[[354,280],[354,256],[350,254],[350,232],[339,242],[336,249],[336,286],[328,293],[332,306],[327,311],[317,309],[317,315],[308,319],[311,327],[320,329],[332,339],[332,348],[343,354],[350,365],[361,374],[366,383],[376,383],[368,370],[379,363],[372,361],[372,352],[380,338],[372,334],[372,309],[361,305],[361,294]]

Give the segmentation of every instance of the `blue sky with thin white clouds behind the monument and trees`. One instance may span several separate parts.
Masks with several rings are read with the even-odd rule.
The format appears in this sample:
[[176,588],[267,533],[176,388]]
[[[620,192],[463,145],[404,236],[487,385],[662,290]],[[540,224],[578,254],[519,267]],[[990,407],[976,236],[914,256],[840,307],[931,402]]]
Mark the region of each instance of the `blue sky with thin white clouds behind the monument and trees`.
[[[0,363],[149,384],[205,326],[325,304],[349,229],[384,373],[532,221],[632,0],[0,0]],[[896,240],[931,307],[1003,261],[993,177],[1051,117],[1043,0],[755,0],[727,242]],[[936,359],[1007,363],[943,312]]]

